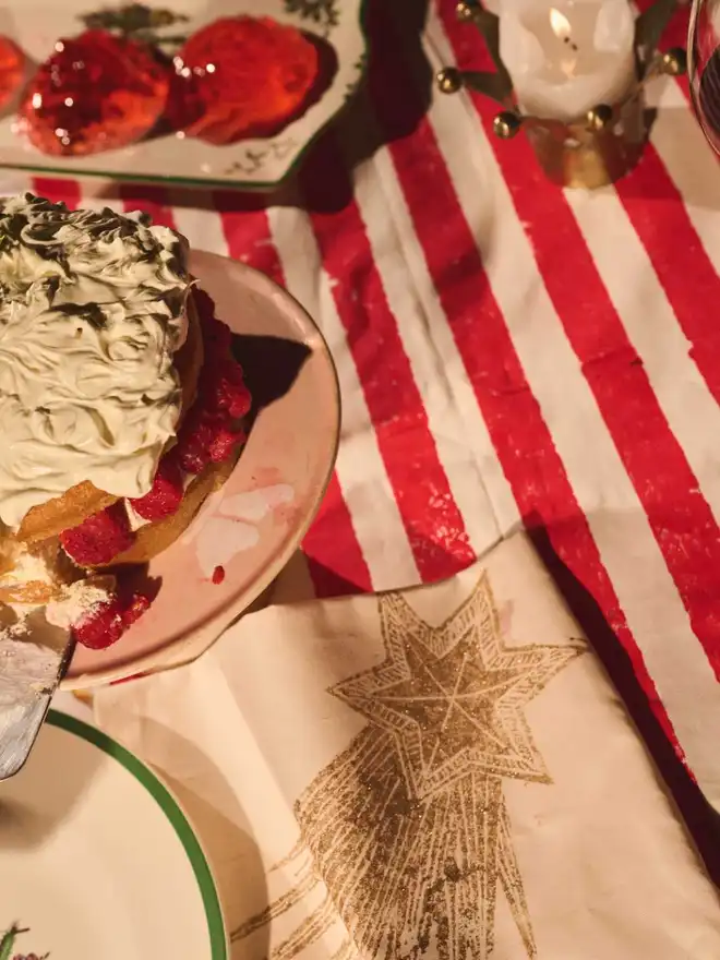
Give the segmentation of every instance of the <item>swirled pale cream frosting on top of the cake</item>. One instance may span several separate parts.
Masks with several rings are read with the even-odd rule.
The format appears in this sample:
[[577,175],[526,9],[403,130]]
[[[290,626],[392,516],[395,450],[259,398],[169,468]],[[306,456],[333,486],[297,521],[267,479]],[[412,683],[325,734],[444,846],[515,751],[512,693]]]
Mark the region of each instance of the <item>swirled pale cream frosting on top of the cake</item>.
[[89,480],[142,496],[173,436],[187,241],[142,214],[0,201],[0,519]]

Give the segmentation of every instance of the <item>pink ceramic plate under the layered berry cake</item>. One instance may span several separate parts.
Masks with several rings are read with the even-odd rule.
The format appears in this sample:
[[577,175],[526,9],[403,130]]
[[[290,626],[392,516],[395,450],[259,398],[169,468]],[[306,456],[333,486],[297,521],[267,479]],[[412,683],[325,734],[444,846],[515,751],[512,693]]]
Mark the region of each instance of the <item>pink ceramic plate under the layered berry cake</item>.
[[191,266],[239,336],[237,356],[260,410],[230,479],[144,574],[159,586],[148,612],[110,649],[79,648],[64,687],[181,663],[209,646],[285,566],[335,463],[339,392],[317,327],[285,290],[241,263],[193,253]]

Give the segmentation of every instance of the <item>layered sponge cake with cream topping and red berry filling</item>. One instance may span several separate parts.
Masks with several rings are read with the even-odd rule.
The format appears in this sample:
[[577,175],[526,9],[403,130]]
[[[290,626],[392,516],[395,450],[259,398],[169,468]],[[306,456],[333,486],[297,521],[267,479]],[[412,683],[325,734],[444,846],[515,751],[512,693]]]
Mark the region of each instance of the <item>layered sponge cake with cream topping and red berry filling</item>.
[[188,243],[142,214],[0,202],[0,603],[115,643],[232,470],[250,409]]

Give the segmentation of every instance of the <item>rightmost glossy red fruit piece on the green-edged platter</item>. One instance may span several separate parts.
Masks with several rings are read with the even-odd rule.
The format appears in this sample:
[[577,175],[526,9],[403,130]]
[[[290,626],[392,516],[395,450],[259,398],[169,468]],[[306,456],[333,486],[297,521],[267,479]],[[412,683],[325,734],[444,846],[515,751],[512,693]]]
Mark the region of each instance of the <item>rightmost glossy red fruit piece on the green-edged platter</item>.
[[188,136],[217,145],[280,129],[299,113],[319,72],[315,46],[268,16],[216,20],[190,37],[175,63],[171,119]]

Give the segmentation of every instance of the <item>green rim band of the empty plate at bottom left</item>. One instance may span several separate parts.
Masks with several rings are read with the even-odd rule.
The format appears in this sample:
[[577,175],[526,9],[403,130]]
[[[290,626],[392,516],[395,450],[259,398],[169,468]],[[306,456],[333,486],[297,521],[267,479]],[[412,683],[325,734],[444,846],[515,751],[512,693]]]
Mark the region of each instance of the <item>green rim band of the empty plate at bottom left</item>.
[[228,960],[229,955],[228,941],[225,934],[225,921],[223,920],[220,900],[217,895],[213,874],[211,873],[207,863],[207,857],[205,856],[188,818],[167,787],[158,780],[146,764],[137,759],[136,756],[131,754],[129,749],[125,749],[125,747],[121,746],[117,741],[112,740],[112,737],[108,736],[107,733],[103,733],[101,730],[97,730],[97,728],[91,727],[88,723],[77,720],[76,717],[71,717],[69,713],[61,713],[59,710],[49,710],[46,722],[51,727],[64,730],[67,733],[73,733],[75,736],[80,736],[82,740],[85,740],[87,743],[101,749],[103,753],[107,754],[109,757],[112,757],[123,766],[129,773],[132,773],[135,780],[147,790],[153,800],[158,804],[172,825],[178,839],[182,843],[188,860],[190,861],[192,872],[195,875],[195,880],[197,881],[203,900],[203,907],[205,908],[205,919],[207,921],[207,932],[211,944],[211,958],[212,960]]

